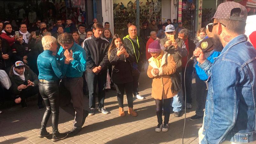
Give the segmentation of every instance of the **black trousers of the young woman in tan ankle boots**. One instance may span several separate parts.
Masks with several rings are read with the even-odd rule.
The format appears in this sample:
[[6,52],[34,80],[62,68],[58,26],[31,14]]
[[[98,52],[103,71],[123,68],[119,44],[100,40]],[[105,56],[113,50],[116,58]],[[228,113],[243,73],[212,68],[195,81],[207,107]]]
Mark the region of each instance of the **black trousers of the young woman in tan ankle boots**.
[[133,82],[130,83],[122,83],[122,84],[115,84],[116,91],[117,91],[117,101],[119,107],[124,107],[124,90],[126,92],[128,107],[133,108],[133,96],[132,96],[132,87]]

